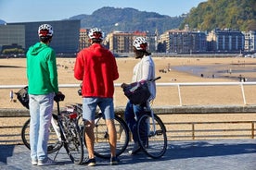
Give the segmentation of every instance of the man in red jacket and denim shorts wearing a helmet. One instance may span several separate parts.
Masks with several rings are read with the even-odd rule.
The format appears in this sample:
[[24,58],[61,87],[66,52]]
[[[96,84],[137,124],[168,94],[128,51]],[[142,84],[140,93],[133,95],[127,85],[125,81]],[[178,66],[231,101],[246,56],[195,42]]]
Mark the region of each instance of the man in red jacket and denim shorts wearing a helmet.
[[102,46],[103,32],[97,28],[88,33],[91,46],[84,48],[76,58],[74,77],[83,80],[83,121],[89,166],[96,165],[94,155],[94,127],[96,106],[105,115],[109,130],[110,164],[118,164],[116,157],[116,128],[114,125],[114,80],[119,78],[117,64],[112,53]]

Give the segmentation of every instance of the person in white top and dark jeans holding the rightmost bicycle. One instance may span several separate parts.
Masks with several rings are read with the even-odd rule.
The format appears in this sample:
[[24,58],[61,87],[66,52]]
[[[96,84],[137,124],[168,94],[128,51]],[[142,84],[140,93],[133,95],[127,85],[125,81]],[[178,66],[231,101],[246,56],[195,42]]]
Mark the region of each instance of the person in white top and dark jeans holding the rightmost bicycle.
[[[135,58],[139,59],[139,62],[134,66],[132,82],[155,79],[155,64],[151,58],[151,54],[147,52],[147,40],[144,37],[137,37],[133,42],[133,46]],[[122,83],[122,88],[125,86],[127,86],[127,84]],[[144,114],[144,107],[147,107],[149,102],[156,97],[155,81],[148,83],[148,89],[151,93],[151,96],[146,103],[134,104],[131,103],[131,101],[128,101],[124,111],[125,121],[133,134],[134,140],[134,148],[132,151],[129,151],[131,154],[134,154],[140,150],[138,137],[136,134],[136,120],[138,120],[140,115]],[[146,122],[145,128],[147,128]]]

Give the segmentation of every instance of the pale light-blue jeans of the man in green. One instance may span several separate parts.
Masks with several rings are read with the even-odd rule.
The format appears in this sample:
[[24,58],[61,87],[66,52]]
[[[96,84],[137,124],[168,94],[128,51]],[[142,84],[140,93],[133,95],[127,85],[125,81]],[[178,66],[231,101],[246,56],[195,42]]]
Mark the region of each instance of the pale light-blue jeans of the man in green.
[[47,142],[52,118],[55,93],[45,95],[30,94],[30,144],[32,160],[47,158]]

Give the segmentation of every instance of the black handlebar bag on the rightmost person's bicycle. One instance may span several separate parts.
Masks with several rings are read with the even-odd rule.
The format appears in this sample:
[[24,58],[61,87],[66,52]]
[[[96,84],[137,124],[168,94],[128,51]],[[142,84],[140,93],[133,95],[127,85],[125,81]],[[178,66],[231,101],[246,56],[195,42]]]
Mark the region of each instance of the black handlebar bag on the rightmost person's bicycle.
[[150,97],[147,82],[134,82],[123,88],[124,95],[134,104],[146,103]]

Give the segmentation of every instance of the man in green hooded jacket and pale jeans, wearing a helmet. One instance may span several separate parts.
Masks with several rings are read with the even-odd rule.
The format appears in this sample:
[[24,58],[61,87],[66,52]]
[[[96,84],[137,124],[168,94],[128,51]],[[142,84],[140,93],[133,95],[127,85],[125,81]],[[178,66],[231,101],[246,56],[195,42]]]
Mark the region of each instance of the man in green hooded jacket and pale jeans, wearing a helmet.
[[58,93],[58,73],[55,51],[49,47],[53,28],[43,24],[38,29],[40,42],[27,52],[27,78],[30,97],[30,144],[32,165],[55,162],[47,156],[48,128],[51,124],[54,96]]

